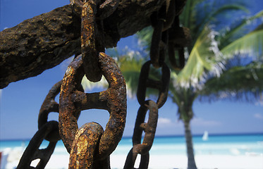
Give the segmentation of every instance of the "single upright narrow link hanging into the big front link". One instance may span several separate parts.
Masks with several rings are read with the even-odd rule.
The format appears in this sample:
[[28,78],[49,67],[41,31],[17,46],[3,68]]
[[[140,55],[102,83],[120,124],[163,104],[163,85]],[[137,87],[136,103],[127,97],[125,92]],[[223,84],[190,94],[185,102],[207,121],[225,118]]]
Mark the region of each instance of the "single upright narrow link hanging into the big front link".
[[104,52],[103,34],[99,35],[96,22],[98,0],[85,1],[82,4],[81,13],[81,51],[84,63],[84,71],[88,80],[98,82],[102,78],[99,69],[99,52]]

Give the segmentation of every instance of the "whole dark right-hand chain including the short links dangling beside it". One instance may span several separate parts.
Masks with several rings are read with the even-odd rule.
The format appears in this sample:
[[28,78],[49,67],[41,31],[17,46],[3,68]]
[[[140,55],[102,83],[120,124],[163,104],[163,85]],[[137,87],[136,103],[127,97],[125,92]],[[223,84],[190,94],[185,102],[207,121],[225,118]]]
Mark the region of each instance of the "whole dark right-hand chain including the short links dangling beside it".
[[[148,168],[149,150],[154,142],[154,134],[157,128],[158,108],[161,108],[166,102],[169,90],[170,70],[164,62],[166,51],[168,51],[172,68],[183,68],[185,64],[183,48],[190,43],[190,33],[188,29],[179,26],[178,15],[182,12],[182,6],[184,5],[185,1],[166,1],[166,6],[162,6],[160,10],[157,13],[153,13],[151,17],[154,32],[152,34],[149,52],[150,61],[142,65],[140,73],[137,88],[137,101],[140,104],[140,108],[137,112],[133,132],[133,148],[128,153],[124,169],[134,168],[137,154],[141,154],[139,168]],[[178,30],[181,30],[181,32],[178,32]],[[188,37],[185,36],[185,32]],[[174,35],[179,35],[179,37]],[[180,39],[180,37],[182,38]],[[182,39],[183,41],[181,42]],[[179,65],[176,63],[175,49],[178,50],[179,53]],[[161,68],[161,80],[149,79],[151,64],[154,68]],[[156,103],[152,100],[145,101],[147,87],[158,89],[159,96]],[[147,123],[145,123],[145,115],[148,110],[149,118]],[[145,131],[145,137],[141,144],[143,131]]]

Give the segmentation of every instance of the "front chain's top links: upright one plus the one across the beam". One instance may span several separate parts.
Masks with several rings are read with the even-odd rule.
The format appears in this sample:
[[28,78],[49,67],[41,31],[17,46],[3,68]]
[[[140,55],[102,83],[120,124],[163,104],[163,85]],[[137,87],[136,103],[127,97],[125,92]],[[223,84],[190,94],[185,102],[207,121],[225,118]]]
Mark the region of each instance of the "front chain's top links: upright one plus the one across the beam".
[[[97,23],[96,18],[103,19],[111,15],[118,7],[118,3],[119,0],[107,0],[99,6],[100,0],[71,0],[73,11],[81,16],[82,59],[85,75],[92,82],[99,82],[102,79],[98,56],[99,52],[105,51],[102,22]],[[98,6],[100,11],[97,11]]]

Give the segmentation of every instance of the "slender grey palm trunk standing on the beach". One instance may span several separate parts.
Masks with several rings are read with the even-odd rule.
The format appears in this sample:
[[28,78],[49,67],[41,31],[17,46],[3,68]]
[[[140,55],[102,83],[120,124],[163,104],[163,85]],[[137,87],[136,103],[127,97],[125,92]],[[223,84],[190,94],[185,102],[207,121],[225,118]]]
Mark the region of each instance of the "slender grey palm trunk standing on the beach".
[[194,149],[192,147],[192,133],[190,128],[190,121],[183,120],[183,123],[185,125],[185,141],[188,154],[188,169],[197,169],[195,165]]

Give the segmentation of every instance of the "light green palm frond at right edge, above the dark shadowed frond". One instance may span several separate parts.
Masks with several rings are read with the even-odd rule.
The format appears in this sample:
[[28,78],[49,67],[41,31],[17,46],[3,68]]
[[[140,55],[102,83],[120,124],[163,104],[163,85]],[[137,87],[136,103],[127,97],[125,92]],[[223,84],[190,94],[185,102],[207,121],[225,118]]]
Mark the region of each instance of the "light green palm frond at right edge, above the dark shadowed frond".
[[263,49],[263,27],[237,39],[221,49],[222,54],[234,56],[235,54],[249,54],[250,56],[260,56]]

